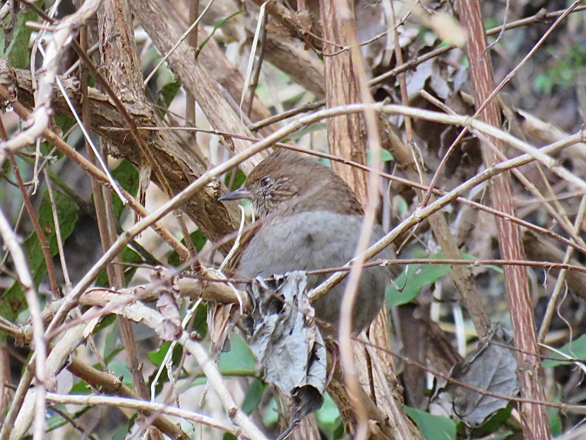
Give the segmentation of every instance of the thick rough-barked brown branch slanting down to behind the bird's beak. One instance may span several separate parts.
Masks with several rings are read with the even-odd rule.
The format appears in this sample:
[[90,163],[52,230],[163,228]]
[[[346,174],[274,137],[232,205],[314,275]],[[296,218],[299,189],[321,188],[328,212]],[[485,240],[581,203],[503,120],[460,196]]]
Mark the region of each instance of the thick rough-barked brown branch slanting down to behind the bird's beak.
[[[81,113],[79,83],[73,79],[62,79],[62,83],[76,111]],[[2,99],[13,101],[13,96],[8,90],[14,90],[18,103],[28,108],[34,106],[32,82],[30,80],[30,73],[26,70],[11,69],[5,60],[0,60],[0,86],[4,90],[2,92]],[[53,110],[55,113],[71,117],[71,110],[67,107],[67,103],[63,99],[60,99],[58,96],[59,92],[56,93],[56,98],[53,100]],[[88,98],[93,130],[103,136],[111,145],[115,145],[117,147],[117,154],[128,158],[128,160],[136,165],[141,164],[141,157],[137,152],[132,138],[124,131],[108,130],[111,127],[121,128],[120,121],[122,120],[122,116],[118,113],[113,101],[107,95],[98,92],[93,87],[88,87]],[[29,112],[24,109],[19,109],[18,103],[13,103],[13,107],[19,116],[26,119]],[[150,127],[157,126],[149,107],[142,107],[142,110],[139,110],[138,107],[128,106],[128,109],[130,109],[131,116],[139,121],[141,125],[144,124]],[[45,131],[45,137],[60,147],[59,149],[68,155],[68,157],[80,163],[86,169],[91,167],[94,171],[92,174],[104,175],[101,170],[93,167],[83,156],[76,155],[76,152],[58,136],[48,133],[50,132]],[[56,143],[59,144],[57,145]],[[156,162],[161,165],[163,174],[165,174],[172,191],[175,193],[181,191],[205,171],[202,164],[189,151],[185,151],[182,147],[180,137],[176,134],[157,131],[148,136],[148,144]],[[102,178],[100,180],[105,183],[108,182]],[[207,185],[200,191],[195,192],[193,197],[186,200],[183,204],[184,211],[202,232],[212,240],[220,239],[229,234],[239,224],[240,214],[236,208],[236,204],[219,204],[216,202],[218,195],[222,194],[222,188],[223,184],[216,181],[214,184]],[[127,199],[129,198],[128,194],[124,195]],[[136,208],[138,209],[138,207]],[[145,212],[139,214],[141,216],[146,215]],[[227,251],[229,246],[223,246],[222,250],[224,249]]]

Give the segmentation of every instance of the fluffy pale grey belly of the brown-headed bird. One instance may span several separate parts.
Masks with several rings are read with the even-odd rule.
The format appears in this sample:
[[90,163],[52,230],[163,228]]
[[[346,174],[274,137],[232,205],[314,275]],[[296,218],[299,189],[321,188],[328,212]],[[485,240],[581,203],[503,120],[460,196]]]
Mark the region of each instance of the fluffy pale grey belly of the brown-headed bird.
[[[244,252],[239,273],[248,278],[270,277],[293,270],[338,268],[352,259],[360,234],[362,216],[325,211],[301,212],[267,222],[251,240]],[[379,225],[371,243],[384,235]],[[375,259],[394,258],[391,249],[384,249]],[[331,273],[311,275],[308,288],[315,287]],[[384,301],[390,281],[389,269],[376,266],[363,270],[353,312],[353,330],[367,327]],[[334,287],[315,304],[316,317],[333,324],[339,320],[340,303],[345,282]]]

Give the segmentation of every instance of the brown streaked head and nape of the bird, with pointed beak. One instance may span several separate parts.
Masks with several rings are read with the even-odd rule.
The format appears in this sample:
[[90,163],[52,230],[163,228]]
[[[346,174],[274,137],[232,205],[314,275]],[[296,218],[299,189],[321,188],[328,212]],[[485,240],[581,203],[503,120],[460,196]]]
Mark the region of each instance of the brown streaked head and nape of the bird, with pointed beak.
[[335,172],[314,158],[284,148],[254,167],[239,189],[218,198],[239,199],[250,200],[261,217],[278,210],[362,214],[354,193]]

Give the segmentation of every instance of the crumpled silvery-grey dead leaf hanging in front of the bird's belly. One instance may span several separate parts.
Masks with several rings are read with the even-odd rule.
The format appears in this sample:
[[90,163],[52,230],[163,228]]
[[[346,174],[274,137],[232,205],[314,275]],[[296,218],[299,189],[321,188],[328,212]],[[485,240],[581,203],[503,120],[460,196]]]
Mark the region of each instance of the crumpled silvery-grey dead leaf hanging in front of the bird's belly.
[[258,277],[251,287],[249,343],[265,380],[292,399],[291,424],[321,408],[326,386],[326,349],[312,319],[305,272]]

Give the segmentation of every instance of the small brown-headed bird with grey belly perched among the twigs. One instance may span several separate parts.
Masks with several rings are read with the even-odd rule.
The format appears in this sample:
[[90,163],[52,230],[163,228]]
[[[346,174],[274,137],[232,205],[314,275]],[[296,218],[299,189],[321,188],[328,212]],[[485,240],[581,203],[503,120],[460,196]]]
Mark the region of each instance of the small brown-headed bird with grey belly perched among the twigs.
[[[219,200],[249,199],[264,218],[237,268],[248,278],[270,277],[293,270],[338,268],[356,251],[363,208],[356,195],[331,168],[289,150],[280,149],[248,174],[240,189]],[[376,225],[371,243],[384,235]],[[393,259],[391,248],[375,259]],[[308,289],[331,273],[308,277]],[[388,268],[375,266],[362,272],[353,311],[353,333],[370,325],[384,302],[390,282]],[[318,319],[336,326],[345,282],[314,303]]]

